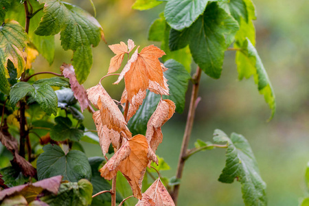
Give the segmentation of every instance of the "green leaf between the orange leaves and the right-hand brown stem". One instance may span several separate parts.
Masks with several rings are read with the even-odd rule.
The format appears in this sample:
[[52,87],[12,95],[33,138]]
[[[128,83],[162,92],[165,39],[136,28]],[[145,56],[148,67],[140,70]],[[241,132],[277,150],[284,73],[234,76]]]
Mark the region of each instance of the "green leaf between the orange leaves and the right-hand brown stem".
[[183,113],[185,108],[185,93],[187,92],[187,84],[191,76],[185,70],[185,67],[176,60],[170,59],[164,63],[168,71],[164,72],[164,76],[168,79],[170,95],[165,96],[172,100],[176,105],[176,112]]

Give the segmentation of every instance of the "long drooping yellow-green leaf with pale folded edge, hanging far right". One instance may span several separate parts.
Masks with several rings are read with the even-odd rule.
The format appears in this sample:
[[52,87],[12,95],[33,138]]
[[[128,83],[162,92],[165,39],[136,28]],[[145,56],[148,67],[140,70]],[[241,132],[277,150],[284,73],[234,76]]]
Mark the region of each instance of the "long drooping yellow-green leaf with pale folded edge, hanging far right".
[[271,81],[264,69],[262,60],[249,38],[242,45],[238,46],[241,48],[240,51],[236,52],[238,78],[242,80],[242,78],[254,76],[255,84],[258,84],[258,90],[264,95],[266,103],[271,108],[270,119],[272,119],[276,109],[275,93],[273,92]]

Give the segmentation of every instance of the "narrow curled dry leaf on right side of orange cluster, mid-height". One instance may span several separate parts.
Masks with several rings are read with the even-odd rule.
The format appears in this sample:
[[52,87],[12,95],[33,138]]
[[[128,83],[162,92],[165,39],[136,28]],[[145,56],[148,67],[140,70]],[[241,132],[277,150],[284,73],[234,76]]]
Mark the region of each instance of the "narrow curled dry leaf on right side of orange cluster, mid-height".
[[152,150],[157,150],[161,144],[163,139],[161,126],[172,117],[175,108],[176,106],[171,100],[160,100],[155,113],[148,120],[146,138]]

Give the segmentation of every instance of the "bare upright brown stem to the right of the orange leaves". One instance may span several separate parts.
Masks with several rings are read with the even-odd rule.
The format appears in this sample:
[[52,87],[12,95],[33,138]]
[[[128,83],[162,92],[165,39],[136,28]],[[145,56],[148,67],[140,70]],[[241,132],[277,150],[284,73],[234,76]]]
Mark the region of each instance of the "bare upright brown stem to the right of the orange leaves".
[[[187,146],[189,144],[191,132],[192,132],[192,126],[194,122],[194,115],[195,115],[195,105],[196,105],[196,98],[198,95],[198,87],[201,80],[201,73],[202,70],[200,67],[196,69],[196,73],[193,76],[193,87],[192,87],[192,93],[191,93],[191,100],[190,100],[190,108],[187,113],[187,124],[185,125],[185,133],[183,135],[183,144],[181,146],[181,153],[179,155],[179,162],[176,172],[176,178],[181,179],[181,176],[183,174],[183,168],[185,166],[185,159],[184,157],[187,156]],[[174,200],[175,205],[177,205],[177,199],[179,195],[179,187],[180,185],[174,186],[174,191],[172,192],[172,198]]]

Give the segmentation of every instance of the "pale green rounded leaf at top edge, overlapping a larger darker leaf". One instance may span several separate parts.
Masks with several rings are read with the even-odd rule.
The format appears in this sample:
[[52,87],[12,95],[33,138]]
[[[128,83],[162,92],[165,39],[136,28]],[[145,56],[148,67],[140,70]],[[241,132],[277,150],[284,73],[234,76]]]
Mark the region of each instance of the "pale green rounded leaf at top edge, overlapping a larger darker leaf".
[[165,19],[174,30],[183,30],[203,14],[207,2],[208,0],[170,0],[165,5]]

